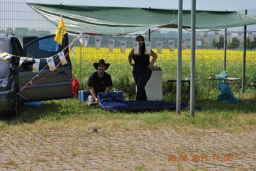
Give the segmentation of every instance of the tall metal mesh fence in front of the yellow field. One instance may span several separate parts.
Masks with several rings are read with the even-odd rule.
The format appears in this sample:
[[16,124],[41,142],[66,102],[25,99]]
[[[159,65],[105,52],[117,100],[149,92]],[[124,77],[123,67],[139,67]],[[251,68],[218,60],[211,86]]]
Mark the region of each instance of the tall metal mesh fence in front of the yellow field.
[[[82,4],[66,4],[66,5],[82,5]],[[166,9],[166,8],[163,8]],[[170,9],[170,8],[169,8]],[[210,10],[209,10],[210,11]],[[211,10],[214,11],[214,10]],[[215,10],[218,11],[218,10]],[[245,13],[245,10],[238,11]],[[256,15],[256,9],[247,10],[248,15]],[[248,25],[247,30],[255,30],[254,25]],[[53,25],[43,18],[36,11],[32,10],[23,2],[0,2],[0,33],[5,31],[13,32],[21,41],[23,36],[45,36],[56,33],[57,26]],[[119,36],[99,36],[102,38],[100,50],[95,50],[95,38],[91,35],[90,42],[87,47],[81,47],[79,41],[75,44],[76,55],[70,58],[72,60],[73,73],[78,79],[82,90],[87,90],[86,82],[89,75],[95,72],[93,67],[94,62],[104,59],[110,63],[108,73],[112,76],[114,82],[125,79],[128,82],[134,82],[132,78],[132,67],[128,63],[128,54],[132,49],[132,41],[135,41],[136,35],[142,34],[145,41],[148,41],[150,33],[151,48],[155,53],[156,41],[163,42],[163,53],[157,53],[157,66],[162,68],[162,80],[175,80],[177,77],[177,29],[169,28],[153,28],[141,32],[131,33],[130,35]],[[152,32],[157,30],[155,32]],[[244,31],[244,27],[228,28],[232,31],[233,37],[237,37],[237,31]],[[210,44],[206,45],[202,34],[208,32]],[[76,38],[77,34],[68,33],[70,43]],[[220,36],[225,37],[225,29],[220,30]],[[186,39],[187,49],[182,51],[182,80],[190,77],[190,30],[183,29],[182,37]],[[196,95],[200,96],[207,93],[209,82],[205,78],[210,74],[220,74],[223,71],[224,63],[224,48],[221,46],[213,46],[214,34],[211,30],[197,29],[196,30]],[[115,40],[114,52],[108,50],[108,40]],[[168,40],[174,40],[175,51],[170,52],[168,49]],[[236,38],[237,39],[237,38]],[[120,41],[127,42],[125,53],[120,52]],[[256,91],[255,87],[255,62],[256,51],[255,46],[252,46],[246,51],[246,78],[245,90]],[[247,45],[248,47],[248,45]],[[249,47],[248,47],[249,48]],[[243,71],[243,43],[238,41],[236,48],[229,47],[226,54],[226,70],[229,72],[229,77],[242,78]],[[165,83],[163,82],[163,86]],[[241,88],[241,82],[239,86]],[[115,84],[114,84],[115,86]],[[210,89],[216,89],[216,84]]]

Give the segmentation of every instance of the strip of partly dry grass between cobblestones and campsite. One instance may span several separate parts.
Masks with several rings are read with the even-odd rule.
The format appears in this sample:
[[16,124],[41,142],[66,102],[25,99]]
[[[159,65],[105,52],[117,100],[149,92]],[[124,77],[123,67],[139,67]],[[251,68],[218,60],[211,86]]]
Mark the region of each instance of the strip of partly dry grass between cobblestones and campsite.
[[[164,96],[166,100],[167,96]],[[96,106],[88,108],[78,100],[44,101],[39,107],[19,107],[15,118],[1,116],[1,131],[63,131],[112,129],[202,129],[216,131],[243,131],[256,125],[256,98],[252,94],[241,96],[239,103],[220,103],[216,100],[196,100],[202,107],[190,118],[190,110],[112,112]],[[33,145],[33,141],[31,145]]]

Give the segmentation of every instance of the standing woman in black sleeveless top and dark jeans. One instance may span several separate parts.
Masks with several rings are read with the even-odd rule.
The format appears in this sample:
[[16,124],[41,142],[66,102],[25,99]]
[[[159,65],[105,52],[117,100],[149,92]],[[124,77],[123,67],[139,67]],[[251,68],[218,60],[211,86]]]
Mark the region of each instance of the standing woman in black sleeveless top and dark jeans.
[[[145,39],[143,36],[137,36],[136,41],[139,42],[139,53],[134,54],[134,48],[128,56],[128,61],[133,66],[132,75],[137,86],[136,100],[148,100],[145,86],[154,69],[153,64],[156,62],[157,55],[150,49],[151,62],[149,61],[149,54],[146,54]],[[134,64],[132,63],[134,61]]]

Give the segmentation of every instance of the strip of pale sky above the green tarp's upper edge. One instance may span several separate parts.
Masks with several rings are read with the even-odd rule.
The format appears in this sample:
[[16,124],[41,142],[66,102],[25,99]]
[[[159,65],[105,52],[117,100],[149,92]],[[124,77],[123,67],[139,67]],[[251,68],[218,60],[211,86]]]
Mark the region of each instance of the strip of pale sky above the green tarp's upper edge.
[[[15,1],[15,0],[14,0]],[[24,0],[17,0],[24,2]],[[100,6],[124,6],[124,7],[162,7],[177,8],[179,0],[32,0],[26,1],[30,3],[62,3],[62,4],[84,4],[84,5],[100,5]],[[183,9],[191,8],[191,0],[183,0]],[[196,0],[196,9],[206,10],[245,10],[255,9],[256,0]]]

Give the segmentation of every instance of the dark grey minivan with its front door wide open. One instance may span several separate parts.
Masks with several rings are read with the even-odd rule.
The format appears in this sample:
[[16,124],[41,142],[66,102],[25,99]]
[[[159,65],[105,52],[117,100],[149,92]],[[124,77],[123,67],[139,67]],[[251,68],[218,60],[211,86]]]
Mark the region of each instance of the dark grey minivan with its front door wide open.
[[[54,38],[55,34],[23,37],[23,48],[13,33],[0,34],[1,53],[13,55],[7,60],[0,57],[0,113],[15,116],[18,102],[71,98],[72,65],[68,55],[68,33],[62,39],[62,46],[56,44]],[[62,51],[67,60],[65,65],[60,63],[58,56]],[[20,57],[28,58],[19,66]],[[56,67],[53,71],[47,64],[46,58],[49,57],[53,58]],[[33,72],[33,65],[38,61],[35,59],[40,59],[38,72]]]

